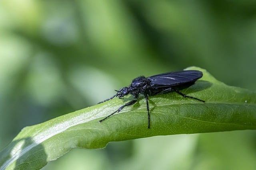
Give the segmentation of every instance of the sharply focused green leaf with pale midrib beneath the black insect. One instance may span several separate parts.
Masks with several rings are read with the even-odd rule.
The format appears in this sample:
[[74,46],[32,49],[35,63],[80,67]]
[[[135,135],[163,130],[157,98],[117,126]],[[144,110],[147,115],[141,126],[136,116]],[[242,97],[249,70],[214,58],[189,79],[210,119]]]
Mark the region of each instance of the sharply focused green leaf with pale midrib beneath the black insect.
[[146,102],[142,98],[109,119],[98,123],[130,100],[114,98],[25,127],[0,152],[0,170],[40,169],[72,148],[98,149],[110,141],[124,141],[156,135],[205,133],[256,129],[256,94],[227,86],[198,67],[204,76],[182,90],[206,102],[184,98],[176,93],[150,96],[151,127],[147,128]]

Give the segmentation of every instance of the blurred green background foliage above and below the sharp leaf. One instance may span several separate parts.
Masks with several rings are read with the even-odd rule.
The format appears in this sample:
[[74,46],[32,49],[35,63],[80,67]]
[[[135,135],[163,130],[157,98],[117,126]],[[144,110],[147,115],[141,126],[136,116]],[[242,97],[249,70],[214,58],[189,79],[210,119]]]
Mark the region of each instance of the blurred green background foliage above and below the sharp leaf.
[[[0,150],[136,76],[188,66],[255,91],[256,1],[1,0]],[[255,143],[255,131],[151,137],[74,149],[44,170],[256,169]]]

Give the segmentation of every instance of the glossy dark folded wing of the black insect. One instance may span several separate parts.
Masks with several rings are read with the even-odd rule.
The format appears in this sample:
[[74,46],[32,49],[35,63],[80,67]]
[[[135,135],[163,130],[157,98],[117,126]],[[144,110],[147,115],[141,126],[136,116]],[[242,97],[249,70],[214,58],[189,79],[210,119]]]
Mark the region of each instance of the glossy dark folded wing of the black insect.
[[167,72],[163,74],[157,74],[150,76],[151,87],[163,87],[163,86],[176,86],[188,82],[195,82],[203,76],[203,73],[198,70],[183,70],[177,72]]

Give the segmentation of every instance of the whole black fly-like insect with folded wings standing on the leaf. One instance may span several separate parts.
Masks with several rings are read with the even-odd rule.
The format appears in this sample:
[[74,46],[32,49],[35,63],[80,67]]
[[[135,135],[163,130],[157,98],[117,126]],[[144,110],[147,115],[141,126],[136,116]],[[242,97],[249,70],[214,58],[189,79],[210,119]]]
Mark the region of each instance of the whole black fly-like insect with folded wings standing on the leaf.
[[[203,73],[198,70],[183,70],[177,72],[167,72],[163,74],[157,74],[150,77],[140,76],[132,80],[132,83],[128,87],[123,87],[120,90],[115,90],[117,93],[102,102],[106,102],[108,100],[113,99],[114,97],[118,97],[120,99],[124,99],[123,97],[132,94],[134,100],[126,103],[121,106],[118,110],[111,113],[104,119],[100,120],[102,122],[108,119],[110,116],[114,115],[114,113],[121,111],[126,106],[131,106],[137,102],[139,99],[139,94],[143,94],[146,99],[147,111],[148,111],[148,128],[150,128],[150,114],[148,107],[148,96],[154,96],[157,94],[176,92],[185,98],[192,98],[195,100],[199,100],[200,102],[204,102],[204,100],[200,100],[198,98],[194,98],[192,96],[187,96],[180,92],[180,90],[188,88],[192,86],[196,80],[201,78]],[[99,102],[98,104],[102,103]]]

